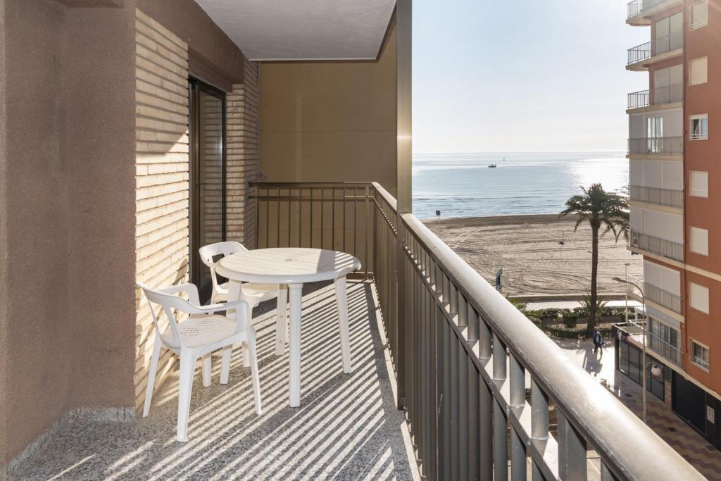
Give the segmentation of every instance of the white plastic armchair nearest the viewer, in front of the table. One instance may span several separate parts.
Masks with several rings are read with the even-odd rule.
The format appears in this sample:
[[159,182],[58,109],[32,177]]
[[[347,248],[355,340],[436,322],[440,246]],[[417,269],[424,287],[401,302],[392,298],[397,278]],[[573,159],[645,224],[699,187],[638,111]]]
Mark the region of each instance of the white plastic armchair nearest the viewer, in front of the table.
[[[143,418],[150,412],[153,400],[153,388],[158,372],[160,350],[165,347],[174,353],[180,354],[180,389],[178,392],[178,420],[177,440],[187,441],[187,418],[190,414],[190,395],[193,392],[193,376],[195,364],[203,358],[203,386],[211,385],[211,353],[213,350],[224,348],[229,351],[232,345],[244,343],[249,355],[250,371],[253,382],[253,395],[255,397],[255,412],[261,414],[260,406],[260,378],[258,377],[258,363],[255,352],[255,330],[250,325],[247,316],[247,303],[244,301],[225,302],[200,306],[198,288],[193,283],[172,286],[162,289],[151,289],[142,283],[136,285],[143,290],[150,301],[151,313],[155,325],[155,340],[153,356],[150,361],[148,375],[148,388],[143,407]],[[177,296],[185,293],[190,302]],[[158,317],[153,304],[162,306],[169,325],[164,332],[160,332]],[[215,314],[219,311],[234,309],[236,320]],[[175,312],[190,314],[188,319],[178,322]],[[228,379],[230,363],[221,367],[221,381]]]

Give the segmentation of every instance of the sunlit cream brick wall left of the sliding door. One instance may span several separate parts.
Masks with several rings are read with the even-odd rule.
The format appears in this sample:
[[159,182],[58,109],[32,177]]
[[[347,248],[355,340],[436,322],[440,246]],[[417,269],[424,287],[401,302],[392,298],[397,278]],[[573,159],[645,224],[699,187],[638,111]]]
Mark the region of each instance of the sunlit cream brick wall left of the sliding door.
[[[179,37],[136,10],[136,278],[149,286],[187,281],[188,54]],[[136,290],[136,405],[145,396],[154,327]],[[169,351],[159,379],[170,368]]]

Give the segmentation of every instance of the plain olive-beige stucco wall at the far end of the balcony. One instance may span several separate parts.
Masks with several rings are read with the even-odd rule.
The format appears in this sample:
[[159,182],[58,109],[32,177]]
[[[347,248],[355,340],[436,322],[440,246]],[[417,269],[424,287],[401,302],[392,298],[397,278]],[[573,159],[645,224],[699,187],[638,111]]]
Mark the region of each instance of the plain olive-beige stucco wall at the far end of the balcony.
[[274,182],[381,182],[396,193],[396,35],[378,61],[262,63],[260,168]]

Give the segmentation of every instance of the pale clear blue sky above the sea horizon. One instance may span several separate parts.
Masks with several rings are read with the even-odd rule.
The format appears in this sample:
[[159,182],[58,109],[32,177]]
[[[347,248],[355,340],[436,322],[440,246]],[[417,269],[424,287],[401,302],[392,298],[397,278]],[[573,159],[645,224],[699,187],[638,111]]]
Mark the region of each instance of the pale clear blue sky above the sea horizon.
[[413,150],[622,151],[626,0],[415,0]]

